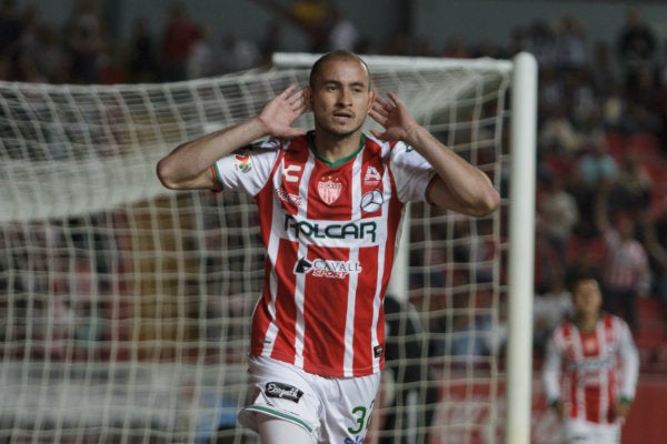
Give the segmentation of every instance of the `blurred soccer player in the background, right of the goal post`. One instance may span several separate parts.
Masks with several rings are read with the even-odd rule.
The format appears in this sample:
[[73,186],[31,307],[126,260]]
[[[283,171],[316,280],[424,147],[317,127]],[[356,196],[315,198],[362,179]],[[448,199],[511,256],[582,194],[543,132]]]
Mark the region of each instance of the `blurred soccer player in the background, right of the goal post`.
[[561,421],[565,442],[619,443],[639,374],[633,334],[624,320],[600,311],[595,273],[576,270],[567,281],[575,314],[547,344],[547,400]]

